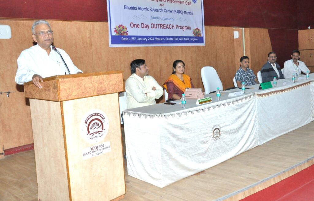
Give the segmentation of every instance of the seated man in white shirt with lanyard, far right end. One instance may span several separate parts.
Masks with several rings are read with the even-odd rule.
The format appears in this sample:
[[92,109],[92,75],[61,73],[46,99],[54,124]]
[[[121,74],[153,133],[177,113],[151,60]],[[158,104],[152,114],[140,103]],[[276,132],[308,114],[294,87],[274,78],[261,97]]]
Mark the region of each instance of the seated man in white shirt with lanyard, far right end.
[[295,76],[299,76],[301,72],[306,74],[306,71],[308,71],[310,73],[305,63],[299,61],[299,59],[299,50],[292,51],[291,59],[284,62],[284,78],[292,78],[292,73],[294,73]]

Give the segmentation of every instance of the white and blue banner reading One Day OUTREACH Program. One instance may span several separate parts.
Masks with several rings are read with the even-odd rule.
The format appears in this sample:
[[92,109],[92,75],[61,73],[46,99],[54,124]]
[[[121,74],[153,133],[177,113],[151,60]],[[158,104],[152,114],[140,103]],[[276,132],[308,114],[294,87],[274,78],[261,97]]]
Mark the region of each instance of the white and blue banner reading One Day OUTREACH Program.
[[109,46],[205,45],[203,0],[107,0]]

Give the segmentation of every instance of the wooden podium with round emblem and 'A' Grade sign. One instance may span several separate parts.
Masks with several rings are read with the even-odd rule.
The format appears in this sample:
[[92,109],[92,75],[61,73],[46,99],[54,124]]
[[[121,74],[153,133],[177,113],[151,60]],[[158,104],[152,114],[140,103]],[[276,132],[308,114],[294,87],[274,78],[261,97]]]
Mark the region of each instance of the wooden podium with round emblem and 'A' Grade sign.
[[126,193],[118,92],[122,71],[24,84],[30,98],[38,198],[107,201]]

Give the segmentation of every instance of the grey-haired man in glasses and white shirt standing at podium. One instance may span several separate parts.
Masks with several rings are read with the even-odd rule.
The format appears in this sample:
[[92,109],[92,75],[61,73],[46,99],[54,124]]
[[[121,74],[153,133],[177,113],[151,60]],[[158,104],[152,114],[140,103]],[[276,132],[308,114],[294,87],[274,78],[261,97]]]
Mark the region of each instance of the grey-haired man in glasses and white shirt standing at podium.
[[42,88],[43,78],[73,73],[83,73],[74,66],[69,55],[52,46],[53,31],[46,20],[37,20],[32,25],[32,37],[37,44],[21,52],[17,62],[15,82],[23,84],[32,81]]

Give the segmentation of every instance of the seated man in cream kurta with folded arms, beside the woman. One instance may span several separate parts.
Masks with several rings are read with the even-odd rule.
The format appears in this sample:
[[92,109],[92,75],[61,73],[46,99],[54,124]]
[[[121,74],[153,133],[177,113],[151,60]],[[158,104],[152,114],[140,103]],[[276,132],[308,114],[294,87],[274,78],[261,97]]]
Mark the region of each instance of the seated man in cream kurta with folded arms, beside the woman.
[[131,62],[132,75],[125,82],[127,92],[127,109],[156,104],[155,99],[164,94],[162,87],[149,76],[145,60],[135,59]]

